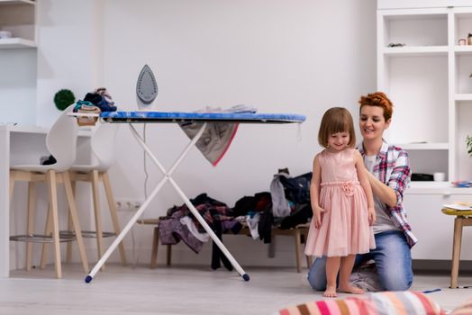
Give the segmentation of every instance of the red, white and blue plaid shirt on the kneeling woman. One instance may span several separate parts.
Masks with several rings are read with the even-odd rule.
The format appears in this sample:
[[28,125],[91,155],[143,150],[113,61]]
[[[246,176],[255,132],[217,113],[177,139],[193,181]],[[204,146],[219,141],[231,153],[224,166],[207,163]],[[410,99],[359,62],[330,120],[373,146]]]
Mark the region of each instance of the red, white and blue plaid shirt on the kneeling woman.
[[[365,157],[366,153],[362,143],[359,144],[358,148],[362,157]],[[400,229],[404,230],[408,245],[413,247],[418,239],[412,233],[412,228],[406,220],[406,211],[404,211],[404,206],[402,205],[404,190],[410,183],[411,176],[408,154],[401,148],[388,145],[384,140],[382,148],[380,148],[380,152],[377,154],[373,175],[380,182],[395,190],[396,205],[394,207],[387,207],[387,214]]]

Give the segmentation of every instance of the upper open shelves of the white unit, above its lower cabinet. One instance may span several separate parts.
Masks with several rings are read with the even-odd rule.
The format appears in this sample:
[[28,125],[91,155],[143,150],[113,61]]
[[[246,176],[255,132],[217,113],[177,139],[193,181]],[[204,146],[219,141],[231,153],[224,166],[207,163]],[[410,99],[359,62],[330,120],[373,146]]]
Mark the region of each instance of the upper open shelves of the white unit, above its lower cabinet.
[[386,139],[408,150],[413,173],[471,179],[472,45],[458,40],[472,33],[472,1],[398,5],[379,0],[377,10],[377,88],[395,105]]

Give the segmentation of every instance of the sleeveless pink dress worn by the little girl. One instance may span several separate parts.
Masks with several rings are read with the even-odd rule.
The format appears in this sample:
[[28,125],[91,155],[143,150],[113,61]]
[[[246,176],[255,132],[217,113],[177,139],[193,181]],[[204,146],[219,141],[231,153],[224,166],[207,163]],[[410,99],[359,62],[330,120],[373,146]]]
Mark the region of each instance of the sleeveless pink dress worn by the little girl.
[[354,148],[331,153],[323,150],[318,160],[322,168],[319,202],[322,226],[312,220],[304,253],[315,257],[345,257],[365,254],[376,247],[368,225],[368,202],[359,184]]

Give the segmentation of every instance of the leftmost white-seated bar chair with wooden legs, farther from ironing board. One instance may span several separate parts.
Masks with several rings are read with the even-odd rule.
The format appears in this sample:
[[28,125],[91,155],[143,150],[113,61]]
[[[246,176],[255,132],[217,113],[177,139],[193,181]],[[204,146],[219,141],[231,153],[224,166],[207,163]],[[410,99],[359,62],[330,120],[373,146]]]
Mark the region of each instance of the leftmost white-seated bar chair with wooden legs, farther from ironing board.
[[[74,105],[70,105],[64,112],[62,112],[57,121],[54,122],[46,136],[46,147],[50,154],[56,158],[57,162],[52,165],[16,165],[10,167],[10,200],[12,200],[14,193],[14,183],[16,181],[28,182],[28,220],[27,220],[27,235],[23,238],[14,238],[13,240],[24,240],[28,242],[26,250],[26,270],[31,270],[32,267],[32,242],[46,243],[50,239],[33,234],[34,227],[34,190],[35,184],[44,182],[48,185],[49,191],[49,213],[46,224],[46,235],[52,235],[52,244],[54,247],[54,266],[58,278],[62,277],[62,269],[60,262],[60,242],[64,239],[59,238],[59,214],[58,214],[58,193],[57,184],[64,184],[66,196],[68,201],[68,209],[70,218],[77,239],[78,249],[82,260],[84,270],[88,272],[88,263],[86,260],[86,250],[82,238],[82,233],[77,217],[77,207],[74,199],[74,193],[68,174],[69,167],[76,159],[76,145],[77,145],[77,123],[74,119],[68,117],[68,112],[71,112]],[[70,238],[69,238],[70,240]],[[43,254],[45,254],[45,247],[43,247]],[[41,262],[45,262],[45,255]],[[44,264],[41,263],[41,266]]]

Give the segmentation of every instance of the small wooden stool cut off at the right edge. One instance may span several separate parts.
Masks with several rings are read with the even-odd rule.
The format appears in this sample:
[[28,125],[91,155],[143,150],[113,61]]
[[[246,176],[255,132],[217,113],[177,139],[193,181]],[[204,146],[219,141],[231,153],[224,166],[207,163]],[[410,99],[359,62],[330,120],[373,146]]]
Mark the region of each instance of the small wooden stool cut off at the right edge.
[[460,246],[462,243],[462,229],[472,226],[472,211],[457,211],[449,208],[441,210],[442,213],[455,215],[454,219],[454,238],[452,245],[452,268],[450,270],[450,288],[458,288],[458,264],[460,261]]

